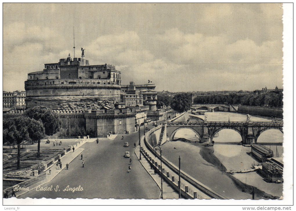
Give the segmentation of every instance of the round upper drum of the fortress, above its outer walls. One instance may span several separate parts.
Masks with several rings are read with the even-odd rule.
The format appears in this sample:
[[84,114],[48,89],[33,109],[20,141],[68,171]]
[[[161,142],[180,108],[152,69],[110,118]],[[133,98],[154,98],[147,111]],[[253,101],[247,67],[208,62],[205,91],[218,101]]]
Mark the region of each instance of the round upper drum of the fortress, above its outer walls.
[[[60,59],[28,74],[25,81],[27,107],[44,105],[59,109],[61,104],[120,101],[121,73],[112,65],[89,65],[84,58]],[[114,103],[113,103],[114,104]]]

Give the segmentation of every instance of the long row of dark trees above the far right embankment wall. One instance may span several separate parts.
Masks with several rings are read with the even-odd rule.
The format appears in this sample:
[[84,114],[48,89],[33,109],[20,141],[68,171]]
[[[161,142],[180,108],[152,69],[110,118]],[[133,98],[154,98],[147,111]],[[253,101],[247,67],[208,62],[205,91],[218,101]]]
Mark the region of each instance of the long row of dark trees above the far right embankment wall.
[[204,95],[194,98],[194,104],[229,104],[259,107],[283,107],[283,93],[265,92],[258,95],[253,94],[223,94]]

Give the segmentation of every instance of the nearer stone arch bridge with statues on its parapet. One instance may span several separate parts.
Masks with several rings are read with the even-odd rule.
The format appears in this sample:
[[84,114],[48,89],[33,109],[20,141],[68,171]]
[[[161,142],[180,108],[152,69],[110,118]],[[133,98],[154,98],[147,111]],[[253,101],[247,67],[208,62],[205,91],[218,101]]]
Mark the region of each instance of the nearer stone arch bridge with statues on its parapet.
[[216,133],[223,129],[237,131],[243,144],[257,143],[261,133],[269,129],[277,129],[283,133],[283,122],[168,122],[167,135],[173,140],[178,130],[188,128],[200,138],[200,142],[213,141]]

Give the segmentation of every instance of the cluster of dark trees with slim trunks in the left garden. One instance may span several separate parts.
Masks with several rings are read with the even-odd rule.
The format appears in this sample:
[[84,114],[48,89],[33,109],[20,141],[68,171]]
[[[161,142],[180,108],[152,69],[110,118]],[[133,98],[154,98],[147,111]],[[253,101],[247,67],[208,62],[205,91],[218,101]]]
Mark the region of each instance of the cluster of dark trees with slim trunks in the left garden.
[[17,169],[20,168],[20,145],[25,141],[37,142],[39,157],[41,139],[57,133],[61,123],[58,114],[41,106],[29,108],[22,116],[3,121],[3,144],[17,145]]

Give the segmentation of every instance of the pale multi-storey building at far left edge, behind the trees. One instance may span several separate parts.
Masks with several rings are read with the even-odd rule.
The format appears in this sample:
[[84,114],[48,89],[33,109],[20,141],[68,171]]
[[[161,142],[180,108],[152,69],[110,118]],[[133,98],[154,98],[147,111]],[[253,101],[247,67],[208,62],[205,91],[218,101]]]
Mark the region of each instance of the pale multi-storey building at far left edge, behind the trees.
[[3,107],[24,106],[26,105],[25,91],[3,91]]

